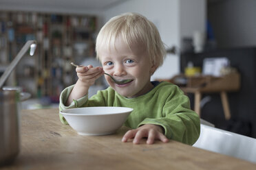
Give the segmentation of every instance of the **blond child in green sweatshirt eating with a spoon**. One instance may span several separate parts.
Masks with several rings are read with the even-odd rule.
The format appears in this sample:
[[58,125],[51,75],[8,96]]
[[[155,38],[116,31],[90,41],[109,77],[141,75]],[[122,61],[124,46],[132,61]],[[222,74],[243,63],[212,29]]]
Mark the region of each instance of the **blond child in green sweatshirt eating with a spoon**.
[[[122,142],[134,138],[140,143],[169,139],[193,145],[200,134],[198,114],[190,110],[189,99],[182,90],[167,82],[151,82],[150,77],[164,60],[165,49],[158,30],[140,14],[127,13],[110,19],[96,39],[97,58],[103,67],[76,68],[78,81],[63,90],[60,110],[90,106],[122,106],[134,108],[125,125]],[[88,99],[88,89],[98,77],[109,73],[117,80],[131,80],[115,84],[108,75],[106,90]],[[61,121],[67,123],[60,114]]]

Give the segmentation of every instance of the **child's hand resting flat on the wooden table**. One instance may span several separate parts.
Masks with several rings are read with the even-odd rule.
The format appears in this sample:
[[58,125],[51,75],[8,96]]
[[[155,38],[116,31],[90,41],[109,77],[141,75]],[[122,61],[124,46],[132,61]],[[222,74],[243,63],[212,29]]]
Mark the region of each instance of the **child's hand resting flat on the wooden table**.
[[147,137],[147,144],[153,144],[155,139],[167,143],[169,139],[162,134],[162,127],[159,125],[146,124],[136,130],[129,130],[122,137],[122,142],[127,142],[129,138],[134,138],[134,143],[140,143],[141,138]]

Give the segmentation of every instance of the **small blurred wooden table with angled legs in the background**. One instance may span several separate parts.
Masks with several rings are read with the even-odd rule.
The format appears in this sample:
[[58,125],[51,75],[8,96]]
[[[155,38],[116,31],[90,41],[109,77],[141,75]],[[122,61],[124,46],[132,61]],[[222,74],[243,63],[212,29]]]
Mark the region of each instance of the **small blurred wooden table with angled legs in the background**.
[[[183,79],[186,84],[179,84],[177,80]],[[228,92],[237,92],[241,85],[241,75],[239,73],[229,73],[221,77],[212,75],[186,76],[183,74],[175,75],[170,80],[158,80],[160,82],[171,82],[177,84],[185,94],[195,95],[194,110],[198,115],[201,114],[200,101],[204,93],[219,93],[222,99],[222,107],[226,120],[231,118],[231,111],[228,104]]]

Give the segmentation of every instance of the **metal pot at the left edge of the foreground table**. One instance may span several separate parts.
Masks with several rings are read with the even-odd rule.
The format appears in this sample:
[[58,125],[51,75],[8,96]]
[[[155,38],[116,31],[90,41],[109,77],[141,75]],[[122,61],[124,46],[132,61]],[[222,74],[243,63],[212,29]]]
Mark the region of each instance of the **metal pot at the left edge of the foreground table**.
[[29,98],[20,88],[0,89],[0,165],[6,165],[19,154],[21,100]]

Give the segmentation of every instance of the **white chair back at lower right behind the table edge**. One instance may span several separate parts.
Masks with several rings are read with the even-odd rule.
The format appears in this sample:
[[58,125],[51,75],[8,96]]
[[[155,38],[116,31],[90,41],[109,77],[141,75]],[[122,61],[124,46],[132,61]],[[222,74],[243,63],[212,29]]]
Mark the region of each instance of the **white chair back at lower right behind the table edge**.
[[209,125],[201,124],[200,137],[193,147],[256,163],[255,138],[220,130]]

